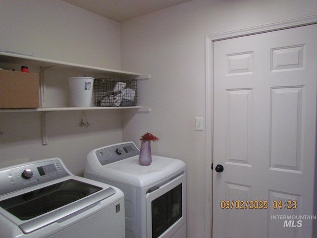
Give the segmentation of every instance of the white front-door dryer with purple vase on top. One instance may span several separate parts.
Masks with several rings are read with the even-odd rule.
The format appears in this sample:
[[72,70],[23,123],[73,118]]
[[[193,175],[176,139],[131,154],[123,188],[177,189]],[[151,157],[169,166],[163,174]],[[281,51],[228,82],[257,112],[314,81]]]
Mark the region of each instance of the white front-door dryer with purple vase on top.
[[133,142],[92,150],[85,178],[118,187],[125,195],[126,238],[186,238],[186,165],[152,155],[139,164]]

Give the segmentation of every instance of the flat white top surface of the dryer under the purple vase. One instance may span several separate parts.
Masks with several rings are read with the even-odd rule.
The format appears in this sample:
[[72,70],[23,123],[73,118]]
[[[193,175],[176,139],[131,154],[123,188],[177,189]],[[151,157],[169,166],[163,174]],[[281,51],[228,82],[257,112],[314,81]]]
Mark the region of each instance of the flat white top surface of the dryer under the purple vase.
[[142,166],[139,164],[137,155],[103,166],[98,177],[144,188],[179,173],[185,168],[186,164],[181,160],[156,155],[152,155],[151,165]]

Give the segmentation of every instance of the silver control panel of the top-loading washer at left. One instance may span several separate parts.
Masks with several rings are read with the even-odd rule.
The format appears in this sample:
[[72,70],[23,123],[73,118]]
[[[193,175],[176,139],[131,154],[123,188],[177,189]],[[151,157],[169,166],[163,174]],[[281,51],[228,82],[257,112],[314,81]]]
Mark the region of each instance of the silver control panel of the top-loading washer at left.
[[58,158],[0,169],[0,196],[70,174]]

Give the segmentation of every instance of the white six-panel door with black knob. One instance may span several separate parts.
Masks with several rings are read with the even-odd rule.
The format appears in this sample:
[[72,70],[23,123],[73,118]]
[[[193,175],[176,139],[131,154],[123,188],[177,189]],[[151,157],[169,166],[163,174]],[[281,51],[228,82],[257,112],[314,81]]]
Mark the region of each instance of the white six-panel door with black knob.
[[213,238],[311,238],[316,98],[316,25],[213,42]]

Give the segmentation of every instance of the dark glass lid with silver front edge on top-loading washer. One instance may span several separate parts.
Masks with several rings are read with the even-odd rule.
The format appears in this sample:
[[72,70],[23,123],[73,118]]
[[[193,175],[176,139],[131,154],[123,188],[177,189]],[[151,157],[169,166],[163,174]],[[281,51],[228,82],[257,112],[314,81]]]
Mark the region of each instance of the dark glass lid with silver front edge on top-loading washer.
[[0,214],[24,234],[29,234],[116,193],[106,184],[98,185],[101,186],[88,179],[72,177],[26,193],[22,190],[16,192],[19,195],[13,193],[10,198],[0,201]]

